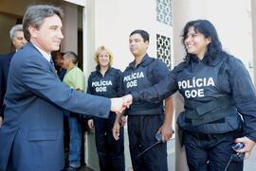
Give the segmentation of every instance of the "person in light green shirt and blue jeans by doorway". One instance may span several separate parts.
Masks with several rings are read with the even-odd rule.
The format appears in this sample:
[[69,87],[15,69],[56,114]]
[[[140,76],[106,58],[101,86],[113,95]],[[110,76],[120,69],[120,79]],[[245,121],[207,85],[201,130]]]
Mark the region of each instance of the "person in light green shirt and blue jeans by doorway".
[[[78,57],[72,52],[64,53],[63,67],[66,70],[64,83],[71,89],[83,92],[84,76],[82,70],[77,66]],[[66,112],[68,117],[69,129],[69,152],[68,152],[68,171],[79,170],[81,166],[82,150],[82,128],[80,124],[80,115],[73,112]]]

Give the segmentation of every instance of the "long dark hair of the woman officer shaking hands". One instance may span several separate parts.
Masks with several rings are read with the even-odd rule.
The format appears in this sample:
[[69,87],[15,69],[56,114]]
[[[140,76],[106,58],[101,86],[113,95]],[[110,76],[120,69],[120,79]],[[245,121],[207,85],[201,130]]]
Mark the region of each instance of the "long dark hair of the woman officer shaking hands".
[[[210,23],[208,20],[194,20],[191,22],[188,22],[186,26],[183,28],[182,33],[182,43],[185,46],[185,40],[187,38],[187,34],[189,32],[189,29],[193,27],[195,32],[199,32],[203,34],[206,38],[211,39],[211,43],[207,46],[207,52],[204,56],[204,60],[207,63],[210,63],[214,58],[216,58],[217,54],[222,52],[222,44],[219,41],[217,31],[215,27]],[[187,51],[187,49],[186,49]],[[187,52],[187,55],[185,57],[185,61],[189,62],[191,57],[194,56],[193,54],[189,54]]]

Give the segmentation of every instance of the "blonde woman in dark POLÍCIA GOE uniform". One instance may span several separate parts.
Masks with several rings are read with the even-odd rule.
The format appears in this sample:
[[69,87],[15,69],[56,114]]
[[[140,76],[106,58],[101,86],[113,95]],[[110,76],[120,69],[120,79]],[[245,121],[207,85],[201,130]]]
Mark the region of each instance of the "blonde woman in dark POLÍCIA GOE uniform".
[[[94,55],[96,71],[88,79],[87,94],[96,94],[108,98],[121,96],[122,73],[111,66],[113,54],[105,46],[100,46]],[[88,120],[88,127],[95,128],[95,140],[101,171],[124,171],[123,128],[116,141],[112,128],[116,114],[110,112],[107,119],[94,117]]]

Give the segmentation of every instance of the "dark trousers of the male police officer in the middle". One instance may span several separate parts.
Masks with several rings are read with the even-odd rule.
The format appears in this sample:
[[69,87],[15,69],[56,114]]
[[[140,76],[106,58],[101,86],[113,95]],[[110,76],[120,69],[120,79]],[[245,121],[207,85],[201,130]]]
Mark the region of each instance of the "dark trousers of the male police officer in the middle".
[[155,133],[163,123],[163,115],[129,115],[128,134],[134,171],[167,171],[166,143],[156,145],[140,158],[137,154],[155,144]]

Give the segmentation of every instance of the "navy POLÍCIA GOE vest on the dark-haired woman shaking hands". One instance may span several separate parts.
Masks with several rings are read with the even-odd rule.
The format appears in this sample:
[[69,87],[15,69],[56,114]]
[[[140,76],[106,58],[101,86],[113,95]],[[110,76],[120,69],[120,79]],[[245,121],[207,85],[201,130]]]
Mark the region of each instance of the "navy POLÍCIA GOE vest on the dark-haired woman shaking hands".
[[[227,61],[226,61],[227,60]],[[226,63],[224,63],[226,61]],[[236,111],[230,94],[220,87],[222,68],[228,57],[206,64],[191,60],[186,67],[177,69],[179,93],[185,99],[185,111],[181,112],[179,128],[201,133],[224,133],[241,126],[241,117]]]

